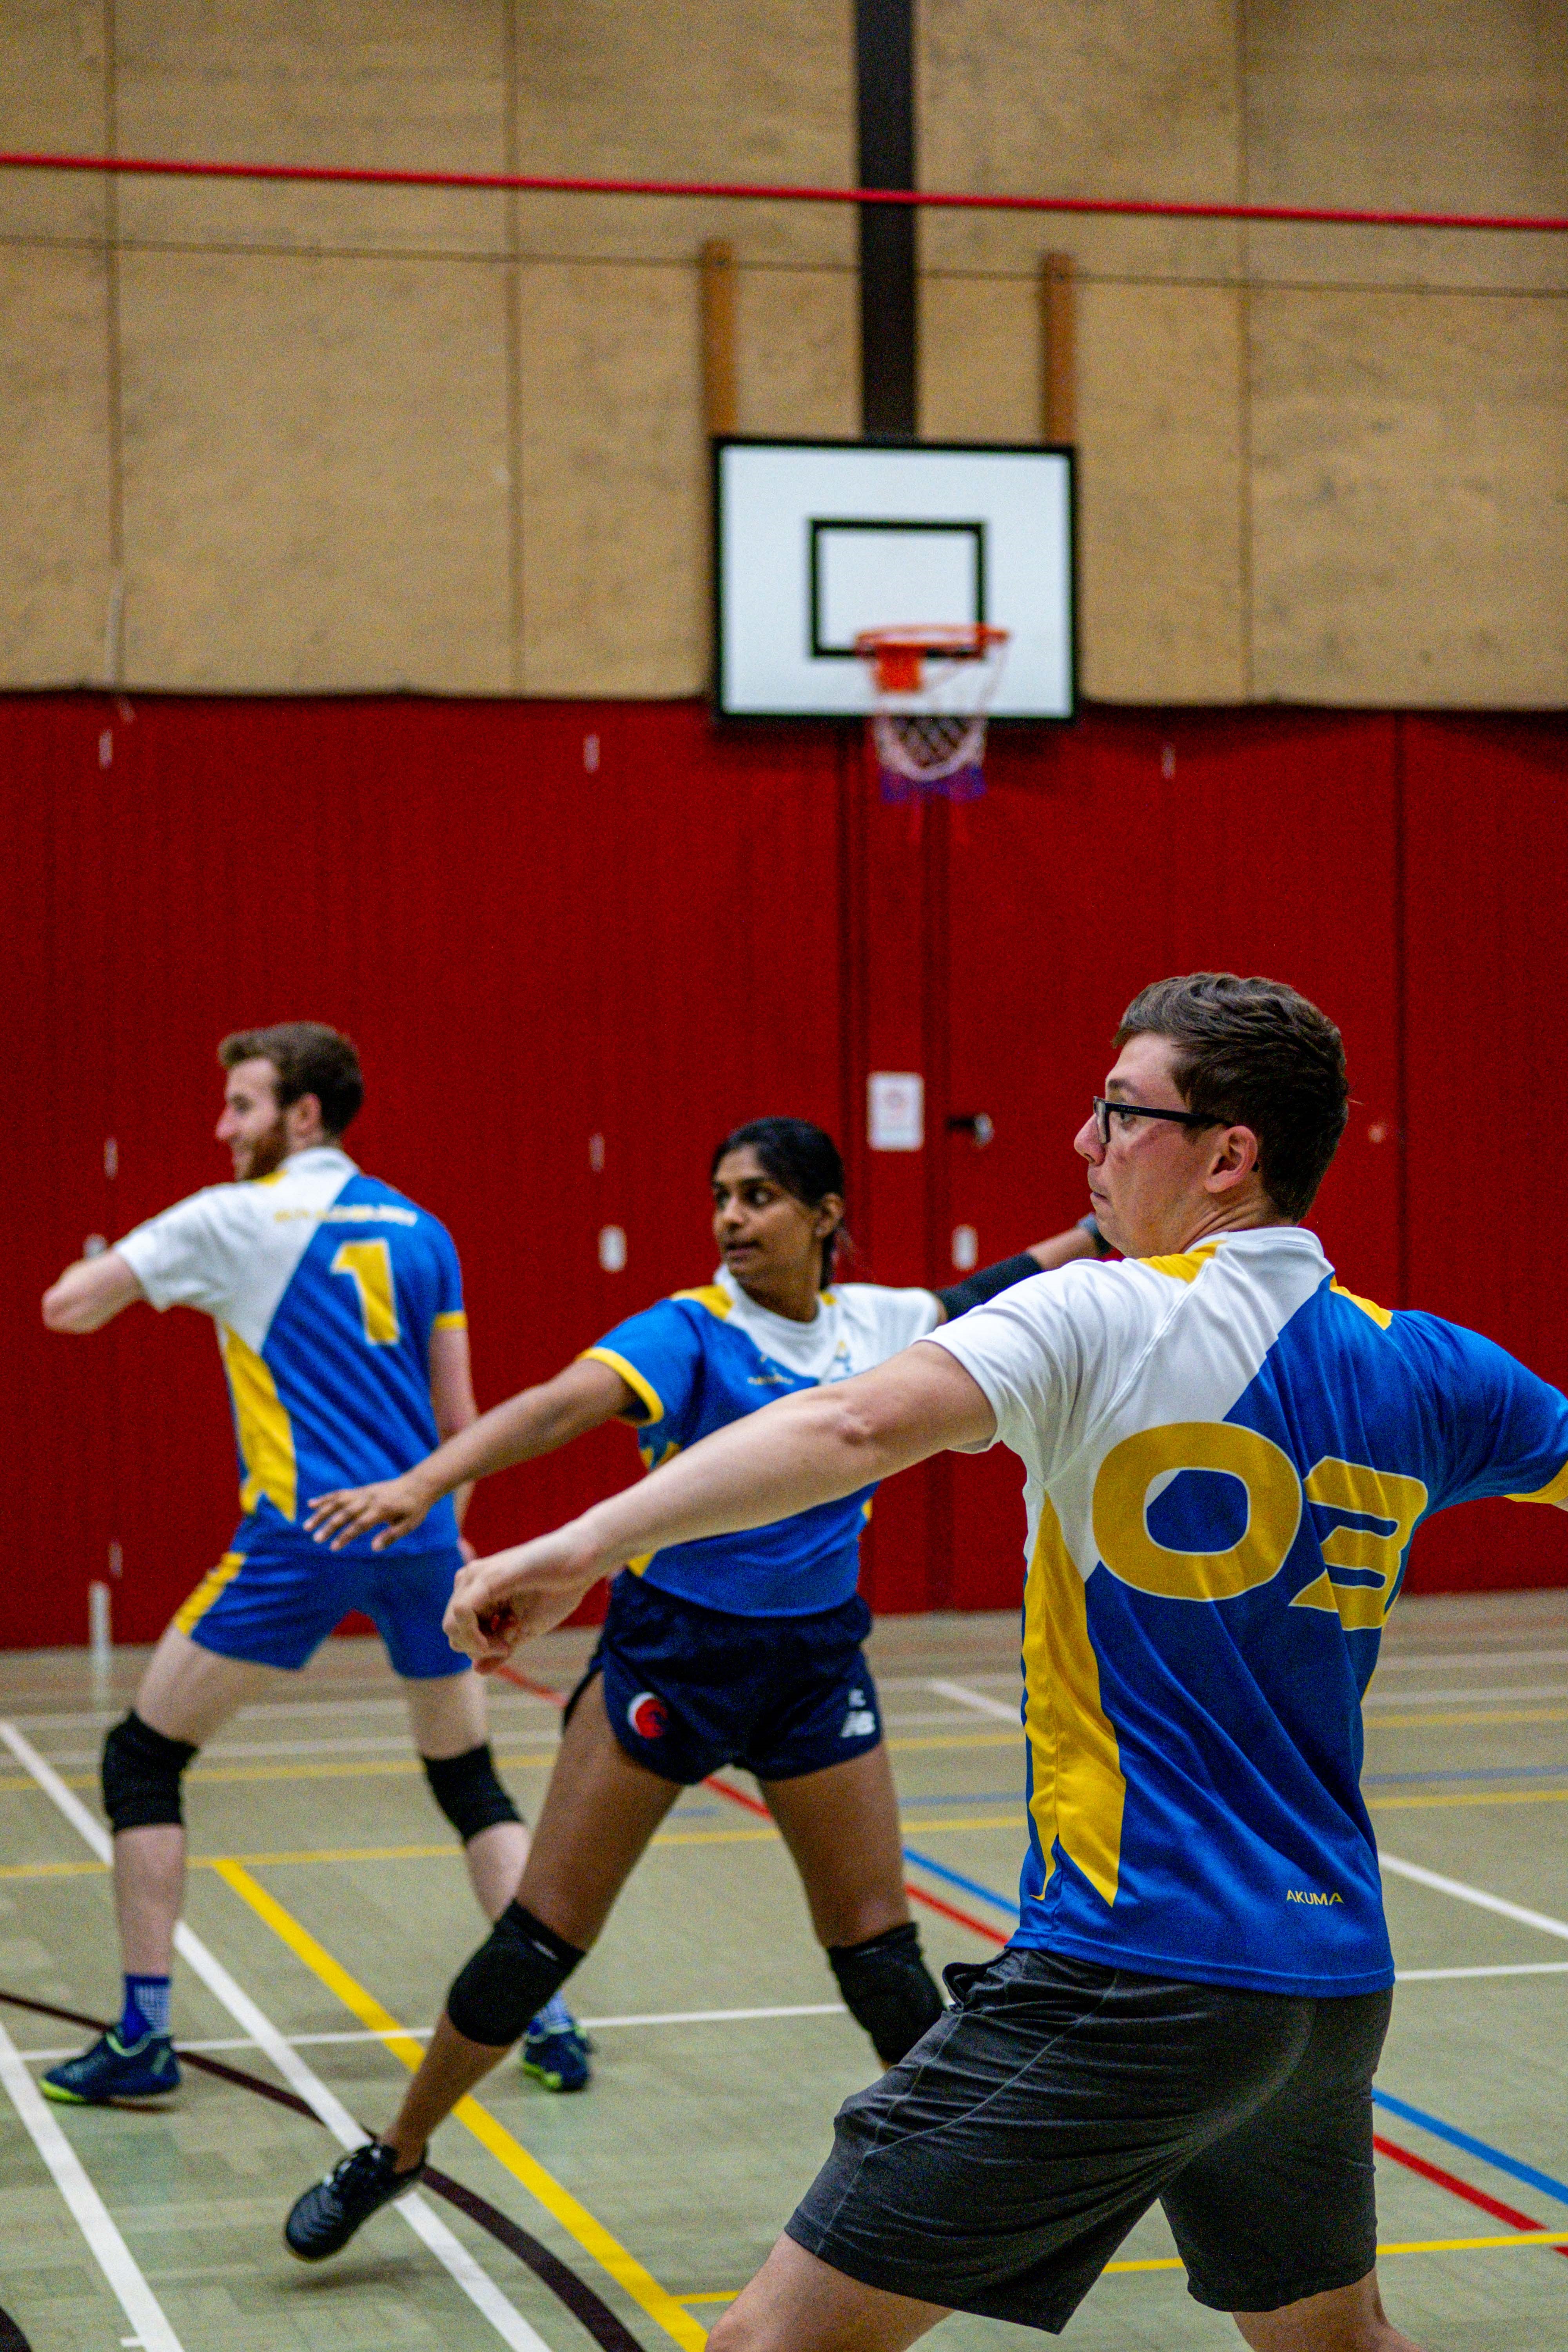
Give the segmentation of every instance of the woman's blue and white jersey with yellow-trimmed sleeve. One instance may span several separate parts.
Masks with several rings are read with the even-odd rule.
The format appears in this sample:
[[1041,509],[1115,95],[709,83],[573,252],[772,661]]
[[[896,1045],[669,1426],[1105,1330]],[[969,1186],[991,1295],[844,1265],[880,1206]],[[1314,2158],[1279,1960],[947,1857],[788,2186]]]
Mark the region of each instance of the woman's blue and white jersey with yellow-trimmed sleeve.
[[[637,1430],[649,1470],[745,1414],[799,1388],[849,1381],[936,1329],[931,1291],[842,1282],[818,1298],[809,1324],[745,1296],[729,1268],[701,1291],[675,1291],[607,1331],[585,1355],[637,1392]],[[672,1543],[630,1559],[663,1592],[731,1616],[811,1616],[846,1602],[860,1576],[860,1529],[872,1489],[820,1503],[795,1519],[738,1536]]]

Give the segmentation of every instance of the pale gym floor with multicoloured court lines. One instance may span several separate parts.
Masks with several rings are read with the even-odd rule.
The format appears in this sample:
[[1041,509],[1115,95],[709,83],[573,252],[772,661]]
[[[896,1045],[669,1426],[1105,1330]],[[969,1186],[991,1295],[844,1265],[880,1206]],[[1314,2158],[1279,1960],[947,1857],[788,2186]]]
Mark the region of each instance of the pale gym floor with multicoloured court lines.
[[[555,1635],[524,1665],[562,1691],[585,1651]],[[978,1959],[1009,1931],[1023,1846],[1016,1623],[893,1618],[872,1656],[926,1950]],[[0,1658],[0,1994],[113,2013],[96,1752],[139,1665],[122,1651],[94,1679],[80,1651]],[[1385,2300],[1425,2352],[1542,2352],[1568,2343],[1568,1592],[1406,1602],[1366,1719],[1401,1971],[1378,2086]],[[555,1726],[543,1691],[496,1691],[524,1811]],[[341,2129],[386,2119],[416,2056],[397,2030],[430,2025],[480,1922],[378,1646],[334,1642],[237,1717],[190,1771],[188,1818],[176,2037]],[[501,2237],[425,2194],[414,2223],[378,2216],[322,2270],[280,2241],[336,2154],[315,2117],[195,2070],[165,2112],[45,2107],[38,2072],[85,2034],[0,2002],[5,2312],[33,2352],[581,2352],[595,2336],[628,2352],[628,2331],[696,2352],[872,2070],[766,1820],[691,1790],[571,1999],[592,2089],[552,2098],[508,2060],[435,2147]],[[555,2284],[501,2241],[508,2220],[524,2253],[567,2265]],[[1552,2232],[1563,2251],[1533,2241]],[[964,2317],[938,2340],[1039,2343]],[[1185,2296],[1157,2211],[1067,2340],[1239,2338]]]

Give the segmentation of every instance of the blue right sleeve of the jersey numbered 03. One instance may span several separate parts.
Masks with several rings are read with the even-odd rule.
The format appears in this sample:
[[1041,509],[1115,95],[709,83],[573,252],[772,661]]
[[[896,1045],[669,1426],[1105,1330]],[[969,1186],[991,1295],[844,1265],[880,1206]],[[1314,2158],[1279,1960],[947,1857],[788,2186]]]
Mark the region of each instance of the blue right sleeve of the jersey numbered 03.
[[1432,1508],[1481,1496],[1556,1501],[1544,1489],[1568,1470],[1568,1397],[1479,1331],[1436,1315],[1401,1322],[1439,1371],[1441,1470]]

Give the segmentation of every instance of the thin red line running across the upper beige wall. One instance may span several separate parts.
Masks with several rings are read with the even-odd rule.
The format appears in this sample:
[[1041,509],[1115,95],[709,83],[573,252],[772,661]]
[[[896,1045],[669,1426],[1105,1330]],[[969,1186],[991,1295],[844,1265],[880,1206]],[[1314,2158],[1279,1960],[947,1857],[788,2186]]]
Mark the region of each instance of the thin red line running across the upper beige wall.
[[919,205],[931,212],[1077,212],[1154,221],[1305,221],[1319,228],[1500,228],[1561,233],[1568,214],[1389,212],[1347,205],[1182,205],[1133,195],[973,195],[954,188],[811,188],[764,181],[576,179],[543,172],[395,172],[374,165],[214,162],[176,155],[0,153],[5,172],[113,172],[134,179],[261,179],[348,188],[477,188],[524,195],[705,195],[766,205]]

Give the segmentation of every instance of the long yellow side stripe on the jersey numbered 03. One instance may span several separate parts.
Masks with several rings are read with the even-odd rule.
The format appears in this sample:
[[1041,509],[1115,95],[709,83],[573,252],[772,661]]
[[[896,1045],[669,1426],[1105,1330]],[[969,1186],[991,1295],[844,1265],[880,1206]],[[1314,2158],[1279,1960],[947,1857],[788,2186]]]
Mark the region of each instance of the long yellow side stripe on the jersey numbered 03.
[[1100,1663],[1088,1639],[1084,1578],[1063,1526],[1041,1496],[1039,1536],[1023,1597],[1023,1726],[1032,1757],[1030,1813],[1053,1870],[1063,1853],[1107,1903],[1121,1870],[1126,1780],[1117,1733],[1100,1705]]

